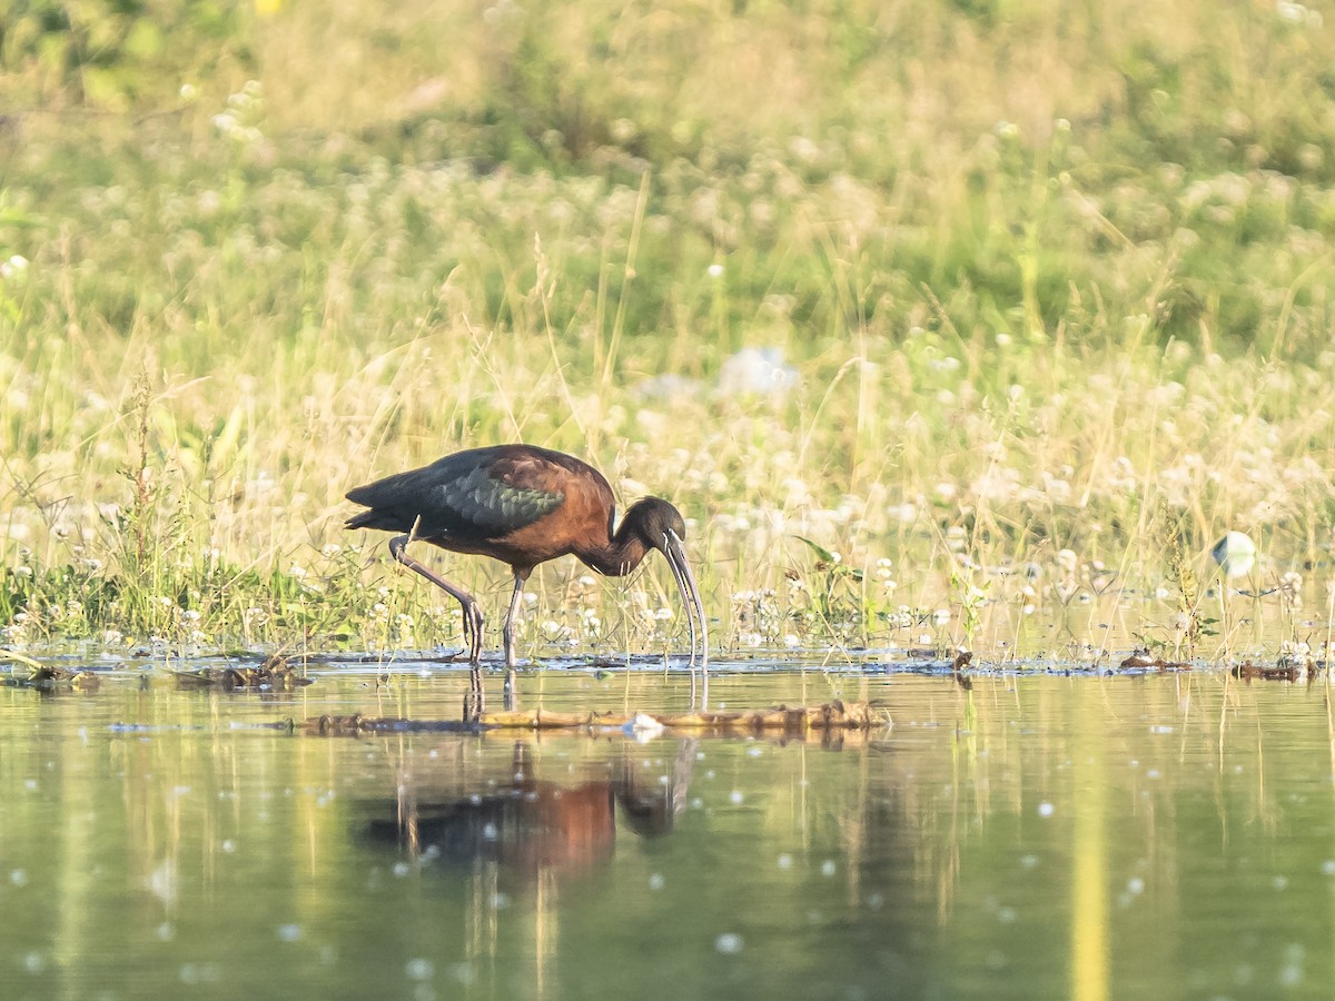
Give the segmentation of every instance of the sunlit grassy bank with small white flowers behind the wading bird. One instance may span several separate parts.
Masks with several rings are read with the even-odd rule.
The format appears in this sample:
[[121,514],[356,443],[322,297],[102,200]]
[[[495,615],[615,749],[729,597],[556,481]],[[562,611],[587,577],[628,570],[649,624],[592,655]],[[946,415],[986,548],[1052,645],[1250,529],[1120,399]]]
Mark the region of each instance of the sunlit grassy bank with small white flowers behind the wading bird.
[[[1181,590],[1228,527],[1318,561],[1327,35],[1252,7],[864,7],[409,4],[370,36],[364,5],[294,4],[228,25],[254,65],[175,115],[24,117],[7,638],[450,641],[340,496],[517,438],[677,500],[725,643],[987,650],[1109,579]],[[29,68],[0,87],[51,109],[116,83]],[[742,346],[798,384],[721,391]],[[495,618],[503,574],[449,566]],[[538,574],[526,643],[680,642],[657,570],[581,573]],[[1184,629],[1131,631],[1199,642],[1181,593]]]

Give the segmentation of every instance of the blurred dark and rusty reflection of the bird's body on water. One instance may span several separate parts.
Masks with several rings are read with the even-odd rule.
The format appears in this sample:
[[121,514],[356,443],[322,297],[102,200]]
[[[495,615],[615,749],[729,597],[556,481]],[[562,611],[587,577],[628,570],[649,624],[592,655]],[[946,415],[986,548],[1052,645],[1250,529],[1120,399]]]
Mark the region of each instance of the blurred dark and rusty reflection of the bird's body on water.
[[686,806],[697,745],[694,738],[680,741],[666,781],[657,769],[638,767],[627,745],[610,763],[609,778],[567,785],[534,777],[527,745],[517,742],[503,782],[439,803],[402,793],[394,818],[372,819],[370,834],[414,858],[494,862],[527,877],[586,872],[611,858],[618,813],[641,837],[672,833]]

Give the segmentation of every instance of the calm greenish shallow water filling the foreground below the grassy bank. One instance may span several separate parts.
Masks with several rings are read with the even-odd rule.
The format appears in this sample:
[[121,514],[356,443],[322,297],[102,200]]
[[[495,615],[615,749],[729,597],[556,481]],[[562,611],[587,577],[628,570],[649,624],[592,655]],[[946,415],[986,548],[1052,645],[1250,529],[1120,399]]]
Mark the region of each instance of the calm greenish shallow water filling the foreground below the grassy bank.
[[[457,718],[466,689],[427,662],[312,675],[0,689],[4,997],[1270,998],[1335,977],[1322,682],[720,665],[716,706],[876,699],[893,725],[639,742],[292,731]],[[522,691],[689,702],[658,670]]]

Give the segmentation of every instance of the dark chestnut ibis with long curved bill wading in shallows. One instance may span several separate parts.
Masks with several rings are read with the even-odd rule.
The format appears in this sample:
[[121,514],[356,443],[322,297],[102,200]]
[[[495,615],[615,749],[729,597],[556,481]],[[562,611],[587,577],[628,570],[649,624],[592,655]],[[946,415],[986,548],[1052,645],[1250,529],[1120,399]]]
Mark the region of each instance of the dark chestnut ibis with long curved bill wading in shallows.
[[[598,470],[585,462],[531,444],[498,444],[446,455],[430,466],[396,472],[347,492],[366,506],[348,529],[403,533],[390,539],[390,553],[422,574],[463,607],[474,693],[481,711],[482,610],[471,594],[450,583],[407,554],[421,539],[453,553],[499,559],[514,573],[514,594],[505,617],[507,702],[514,693],[514,623],[523,582],[538,563],[573,553],[607,577],[629,574],[651,549],[668,558],[681,589],[690,626],[690,666],[696,666],[696,621],[702,641],[701,670],[708,686],[709,627],[700,589],[686,562],[686,523],[666,500],[637,500],[613,533],[615,499]],[[708,699],[708,689],[704,698]]]

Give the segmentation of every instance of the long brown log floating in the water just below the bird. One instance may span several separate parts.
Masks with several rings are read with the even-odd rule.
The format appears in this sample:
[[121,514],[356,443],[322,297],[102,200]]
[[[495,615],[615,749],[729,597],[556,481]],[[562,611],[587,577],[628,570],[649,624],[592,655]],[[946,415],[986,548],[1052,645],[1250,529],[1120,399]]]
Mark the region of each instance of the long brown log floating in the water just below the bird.
[[386,719],[322,715],[298,725],[304,733],[351,735],[411,730],[690,730],[712,733],[806,733],[808,730],[872,730],[890,725],[889,713],[870,702],[826,702],[821,706],[776,706],[736,713],[553,713],[530,709],[483,713],[475,722],[459,719]]

